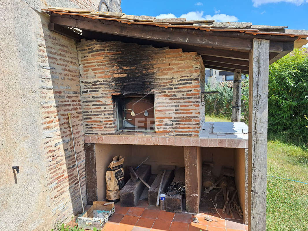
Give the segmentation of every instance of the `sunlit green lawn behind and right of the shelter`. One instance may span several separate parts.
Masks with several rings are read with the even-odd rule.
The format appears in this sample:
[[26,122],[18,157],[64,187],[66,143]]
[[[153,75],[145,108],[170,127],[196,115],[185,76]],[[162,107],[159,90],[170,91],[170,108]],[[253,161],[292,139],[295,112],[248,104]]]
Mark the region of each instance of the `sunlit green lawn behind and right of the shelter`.
[[[205,121],[230,121],[206,116]],[[269,134],[267,144],[267,231],[308,231],[308,148],[300,137]]]

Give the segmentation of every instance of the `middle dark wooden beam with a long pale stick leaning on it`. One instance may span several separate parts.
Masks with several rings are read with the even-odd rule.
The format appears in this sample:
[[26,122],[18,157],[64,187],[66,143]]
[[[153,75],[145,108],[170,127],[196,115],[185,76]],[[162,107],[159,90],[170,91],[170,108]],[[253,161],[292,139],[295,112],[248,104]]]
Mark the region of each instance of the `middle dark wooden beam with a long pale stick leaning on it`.
[[[149,205],[156,205],[158,189],[160,186],[160,180],[163,174],[164,174],[164,170],[160,170],[159,174],[156,176],[151,187],[149,188],[149,191],[148,191]],[[164,175],[164,179],[161,185],[161,192],[166,191],[167,187],[172,183],[173,178],[174,178],[174,170],[166,170],[166,173]]]

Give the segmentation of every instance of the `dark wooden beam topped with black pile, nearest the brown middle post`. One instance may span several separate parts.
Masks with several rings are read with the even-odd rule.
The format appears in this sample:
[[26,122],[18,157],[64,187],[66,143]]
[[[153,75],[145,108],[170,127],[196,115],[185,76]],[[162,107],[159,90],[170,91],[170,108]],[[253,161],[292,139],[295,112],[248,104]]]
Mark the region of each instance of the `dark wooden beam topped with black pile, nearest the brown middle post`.
[[[175,170],[172,183],[179,180],[185,184],[185,169],[183,167]],[[176,194],[174,196],[166,196],[166,211],[172,213],[182,213],[183,211],[183,195]]]

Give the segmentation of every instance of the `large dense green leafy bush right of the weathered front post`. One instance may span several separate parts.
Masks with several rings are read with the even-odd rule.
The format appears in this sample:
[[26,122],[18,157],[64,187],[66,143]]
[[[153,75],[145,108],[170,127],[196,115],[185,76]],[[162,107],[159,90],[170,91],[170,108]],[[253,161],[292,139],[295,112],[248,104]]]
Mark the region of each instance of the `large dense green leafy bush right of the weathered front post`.
[[308,58],[302,50],[295,50],[270,65],[269,132],[286,132],[307,140],[307,115]]

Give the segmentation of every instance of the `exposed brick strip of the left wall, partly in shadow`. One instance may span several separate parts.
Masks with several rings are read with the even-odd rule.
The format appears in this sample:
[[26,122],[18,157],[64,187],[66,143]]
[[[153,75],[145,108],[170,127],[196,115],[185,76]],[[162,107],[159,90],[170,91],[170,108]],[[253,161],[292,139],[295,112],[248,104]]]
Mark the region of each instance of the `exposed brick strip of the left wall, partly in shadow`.
[[67,113],[71,113],[83,202],[87,204],[79,64],[75,41],[49,31],[47,14],[42,14],[41,21],[39,103],[47,158],[47,190],[54,220],[65,223],[72,214],[82,212]]

